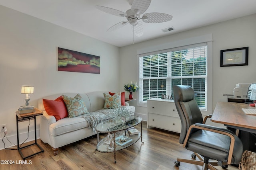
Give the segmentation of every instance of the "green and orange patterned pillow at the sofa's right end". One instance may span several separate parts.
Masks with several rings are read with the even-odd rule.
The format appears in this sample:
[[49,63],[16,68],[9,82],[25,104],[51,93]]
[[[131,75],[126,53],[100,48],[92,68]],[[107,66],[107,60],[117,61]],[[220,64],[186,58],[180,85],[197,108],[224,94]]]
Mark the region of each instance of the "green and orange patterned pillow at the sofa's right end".
[[118,92],[111,96],[110,94],[104,94],[105,104],[103,109],[114,109],[121,107],[121,92]]

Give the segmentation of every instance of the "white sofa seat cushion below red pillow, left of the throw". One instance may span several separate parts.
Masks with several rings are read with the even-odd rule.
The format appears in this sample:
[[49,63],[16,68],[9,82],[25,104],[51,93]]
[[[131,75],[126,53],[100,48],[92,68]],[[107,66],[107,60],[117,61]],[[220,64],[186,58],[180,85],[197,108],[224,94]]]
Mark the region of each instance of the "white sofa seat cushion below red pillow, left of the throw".
[[88,127],[87,121],[82,117],[72,117],[72,119],[66,117],[60,119],[55,123],[52,123],[49,127],[50,135],[58,136],[78,129]]

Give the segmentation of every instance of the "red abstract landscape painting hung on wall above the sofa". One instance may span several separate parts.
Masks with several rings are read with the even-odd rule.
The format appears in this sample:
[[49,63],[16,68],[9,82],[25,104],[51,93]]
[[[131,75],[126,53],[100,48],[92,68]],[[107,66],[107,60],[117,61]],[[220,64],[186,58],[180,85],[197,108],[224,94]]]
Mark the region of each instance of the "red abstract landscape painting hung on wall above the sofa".
[[58,71],[100,74],[100,57],[58,48]]

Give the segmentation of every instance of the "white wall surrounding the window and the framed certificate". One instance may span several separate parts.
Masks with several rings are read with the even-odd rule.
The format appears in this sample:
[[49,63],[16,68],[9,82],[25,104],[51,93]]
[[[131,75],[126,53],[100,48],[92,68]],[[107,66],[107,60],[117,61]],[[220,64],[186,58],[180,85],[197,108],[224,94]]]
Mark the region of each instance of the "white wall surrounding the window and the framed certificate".
[[[173,25],[175,27],[175,25]],[[137,75],[137,50],[159,46],[170,42],[176,42],[201,35],[212,34],[213,37],[213,59],[212,59],[212,76],[213,76],[213,93],[212,93],[212,111],[218,101],[227,101],[227,96],[223,94],[233,94],[233,89],[237,83],[256,82],[254,69],[256,65],[256,14],[237,18],[190,31],[184,31],[121,47],[120,61],[120,88],[130,80],[136,81]],[[248,66],[231,66],[220,67],[220,50],[233,49],[239,47],[249,47],[249,65]],[[126,75],[126,76],[122,76]],[[138,93],[138,92],[137,92]],[[136,97],[136,95],[134,95]],[[136,114],[147,119],[147,108],[136,106]]]

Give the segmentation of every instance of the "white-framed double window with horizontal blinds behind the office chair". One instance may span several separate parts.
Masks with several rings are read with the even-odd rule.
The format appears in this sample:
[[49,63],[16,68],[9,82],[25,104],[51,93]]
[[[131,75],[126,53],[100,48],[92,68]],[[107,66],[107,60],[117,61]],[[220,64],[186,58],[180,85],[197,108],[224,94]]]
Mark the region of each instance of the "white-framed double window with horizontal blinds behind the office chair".
[[[184,56],[184,60],[178,56],[178,58],[174,57],[173,55],[176,54],[186,54]],[[196,61],[194,59],[199,59],[197,57],[205,57],[205,60]],[[177,60],[178,59],[178,60]],[[190,59],[193,59],[191,62]],[[184,63],[184,61],[186,61]],[[189,64],[192,64],[192,74],[187,72],[186,66],[188,66],[186,63],[187,61]],[[139,103],[147,103],[145,100],[149,98],[161,98],[162,94],[167,94],[169,96],[173,96],[172,94],[172,87],[175,83],[175,80],[178,80],[180,84],[185,84],[194,87],[194,81],[198,78],[204,79],[204,89],[207,90],[207,43],[200,43],[195,45],[188,45],[185,47],[180,47],[177,49],[168,49],[166,51],[162,52],[153,52],[149,54],[144,54],[139,57],[139,86],[140,89],[144,87],[143,92],[140,91],[139,93]],[[196,63],[202,63],[206,64],[205,69],[206,72],[203,72],[203,74],[200,73],[200,75],[196,75],[196,70],[194,70],[194,66],[196,66]],[[178,67],[177,67],[178,66]],[[163,70],[161,70],[163,68]],[[178,68],[178,70],[176,70]],[[198,67],[199,68],[199,67]],[[156,69],[156,70],[155,70]],[[189,72],[191,71],[191,68],[189,68]],[[188,73],[187,75],[184,73]],[[166,80],[164,84],[164,88],[161,90],[159,83],[161,80]],[[186,83],[186,79],[189,80],[188,84]],[[145,80],[148,82],[148,88],[145,88]],[[191,81],[191,82],[190,82]],[[192,83],[192,84],[191,84]],[[195,91],[196,92],[196,91]],[[206,91],[200,91],[198,92],[203,93],[203,99],[198,98],[199,100],[203,101],[203,105],[200,105],[198,103],[198,106],[200,109],[207,109],[207,103],[206,97],[207,92]],[[148,96],[147,96],[148,95]],[[200,95],[199,95],[200,96]],[[204,98],[205,97],[205,98]]]

